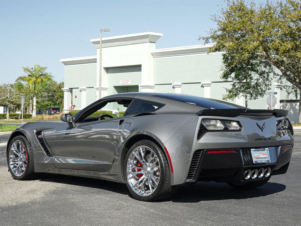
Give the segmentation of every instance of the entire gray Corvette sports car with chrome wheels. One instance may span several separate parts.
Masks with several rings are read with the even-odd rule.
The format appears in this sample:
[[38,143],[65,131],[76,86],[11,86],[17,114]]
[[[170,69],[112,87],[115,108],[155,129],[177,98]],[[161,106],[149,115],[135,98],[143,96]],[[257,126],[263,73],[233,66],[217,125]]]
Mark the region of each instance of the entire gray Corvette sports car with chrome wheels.
[[[117,107],[123,116],[94,116]],[[14,179],[47,172],[112,180],[142,201],[198,181],[250,189],[286,173],[294,143],[287,111],[183,94],[116,94],[61,120],[14,130],[7,145]]]

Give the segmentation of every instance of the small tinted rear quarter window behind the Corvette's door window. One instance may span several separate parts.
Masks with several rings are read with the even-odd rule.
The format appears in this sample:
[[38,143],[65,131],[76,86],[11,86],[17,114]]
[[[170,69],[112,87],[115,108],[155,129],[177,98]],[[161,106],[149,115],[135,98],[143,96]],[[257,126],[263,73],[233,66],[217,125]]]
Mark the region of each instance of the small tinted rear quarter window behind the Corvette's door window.
[[135,99],[129,105],[128,109],[124,113],[124,115],[135,115],[140,114],[144,112],[153,112],[158,110],[159,108],[162,108],[164,104],[160,104],[157,102],[152,102],[148,100],[142,100],[142,99]]

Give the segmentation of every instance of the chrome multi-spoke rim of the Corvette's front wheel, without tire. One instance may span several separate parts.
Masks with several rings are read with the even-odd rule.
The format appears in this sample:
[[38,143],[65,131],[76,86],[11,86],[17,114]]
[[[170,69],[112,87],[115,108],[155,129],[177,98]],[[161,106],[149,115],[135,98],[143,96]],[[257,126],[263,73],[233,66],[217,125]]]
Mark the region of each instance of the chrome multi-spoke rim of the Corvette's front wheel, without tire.
[[9,167],[11,172],[20,177],[23,175],[27,165],[26,146],[21,140],[15,140],[9,150]]

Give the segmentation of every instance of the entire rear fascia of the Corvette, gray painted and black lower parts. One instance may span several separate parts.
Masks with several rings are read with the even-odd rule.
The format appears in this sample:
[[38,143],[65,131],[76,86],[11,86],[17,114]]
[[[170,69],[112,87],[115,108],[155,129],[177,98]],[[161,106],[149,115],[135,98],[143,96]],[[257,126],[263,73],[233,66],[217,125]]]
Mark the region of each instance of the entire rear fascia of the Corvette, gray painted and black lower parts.
[[[222,120],[233,120],[227,117],[215,117]],[[246,167],[256,167],[251,160],[251,148],[271,149],[271,165],[273,174],[284,172],[284,165],[290,162],[291,150],[281,150],[282,146],[293,145],[294,137],[291,132],[276,133],[276,121],[281,118],[271,117],[236,117],[243,126],[241,131],[213,131],[203,134],[198,139],[201,116],[194,116],[187,121],[164,146],[169,152],[173,171],[171,185],[184,185],[196,183],[200,180],[215,180],[219,182],[240,182],[242,172]],[[265,130],[260,130],[256,125],[265,123]],[[197,126],[196,126],[197,125]],[[234,153],[207,153],[208,150],[235,149]],[[195,154],[198,154],[195,156]],[[197,171],[194,180],[191,176],[191,163],[197,161]],[[265,164],[263,164],[265,165]],[[252,168],[253,169],[253,168]],[[278,171],[278,170],[282,171]],[[274,172],[275,171],[275,172]]]

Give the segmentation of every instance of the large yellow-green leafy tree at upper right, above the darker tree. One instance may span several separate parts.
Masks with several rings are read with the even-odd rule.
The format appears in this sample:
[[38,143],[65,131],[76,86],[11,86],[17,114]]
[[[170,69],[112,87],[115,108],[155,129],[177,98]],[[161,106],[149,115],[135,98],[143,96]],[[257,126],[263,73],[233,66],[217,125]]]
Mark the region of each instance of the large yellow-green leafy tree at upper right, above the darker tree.
[[[223,70],[231,71],[233,67],[239,68],[237,64],[251,63],[267,68],[262,71],[265,77],[274,74],[286,79],[299,90],[301,121],[301,2],[267,1],[256,5],[228,0],[212,20],[217,28],[210,29],[208,36],[199,40],[216,43],[209,52],[225,51]],[[270,74],[272,67],[279,74]]]

